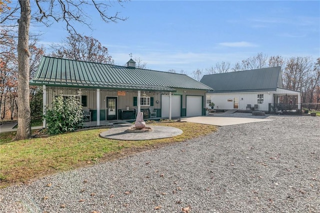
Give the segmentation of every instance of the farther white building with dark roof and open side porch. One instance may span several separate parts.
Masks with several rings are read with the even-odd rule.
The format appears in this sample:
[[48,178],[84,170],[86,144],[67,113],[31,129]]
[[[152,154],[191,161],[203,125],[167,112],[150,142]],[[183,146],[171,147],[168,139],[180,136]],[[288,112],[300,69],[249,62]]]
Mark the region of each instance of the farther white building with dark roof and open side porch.
[[301,109],[300,92],[282,87],[281,67],[203,75],[201,83],[212,88],[206,93],[218,109],[270,111],[280,103]]

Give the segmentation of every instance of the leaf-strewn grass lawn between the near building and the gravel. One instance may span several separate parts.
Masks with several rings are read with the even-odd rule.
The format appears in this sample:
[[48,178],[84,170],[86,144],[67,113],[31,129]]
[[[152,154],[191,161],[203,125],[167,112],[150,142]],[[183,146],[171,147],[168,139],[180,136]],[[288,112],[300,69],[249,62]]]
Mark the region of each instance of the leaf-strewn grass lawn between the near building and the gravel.
[[12,142],[10,140],[15,132],[0,133],[0,187],[184,141],[216,130],[212,125],[189,122],[155,124],[177,127],[183,133],[153,140],[112,140],[99,137],[99,133],[106,128]]

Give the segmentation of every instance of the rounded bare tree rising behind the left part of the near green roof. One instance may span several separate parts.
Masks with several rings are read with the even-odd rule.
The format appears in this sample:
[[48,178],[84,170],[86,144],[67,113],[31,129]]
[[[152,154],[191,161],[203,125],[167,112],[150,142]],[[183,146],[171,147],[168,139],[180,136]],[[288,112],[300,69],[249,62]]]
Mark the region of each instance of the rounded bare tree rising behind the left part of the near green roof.
[[71,34],[61,44],[52,44],[52,56],[73,60],[113,64],[108,49],[91,36]]

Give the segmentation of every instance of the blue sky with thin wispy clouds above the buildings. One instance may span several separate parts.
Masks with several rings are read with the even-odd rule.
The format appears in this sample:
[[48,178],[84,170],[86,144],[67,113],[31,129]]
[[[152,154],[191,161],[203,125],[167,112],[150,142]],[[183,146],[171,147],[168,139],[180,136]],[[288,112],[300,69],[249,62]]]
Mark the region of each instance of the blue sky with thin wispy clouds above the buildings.
[[[92,29],[76,25],[84,35],[108,48],[117,65],[138,57],[146,67],[167,71],[181,69],[191,75],[197,68],[217,62],[235,62],[262,52],[320,57],[320,1],[147,1],[111,3],[108,14],[118,11],[125,21],[105,23],[93,9]],[[61,42],[67,36],[64,23],[50,27],[32,25],[41,32],[40,43]]]

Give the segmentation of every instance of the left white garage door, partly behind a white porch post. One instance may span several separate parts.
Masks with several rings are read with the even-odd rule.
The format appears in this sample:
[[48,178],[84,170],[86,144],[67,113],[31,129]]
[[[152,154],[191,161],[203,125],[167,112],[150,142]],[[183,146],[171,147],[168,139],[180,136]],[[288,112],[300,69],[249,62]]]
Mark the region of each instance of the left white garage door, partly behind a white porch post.
[[[181,95],[171,95],[171,117],[181,116]],[[169,117],[169,95],[161,94],[161,116]]]

